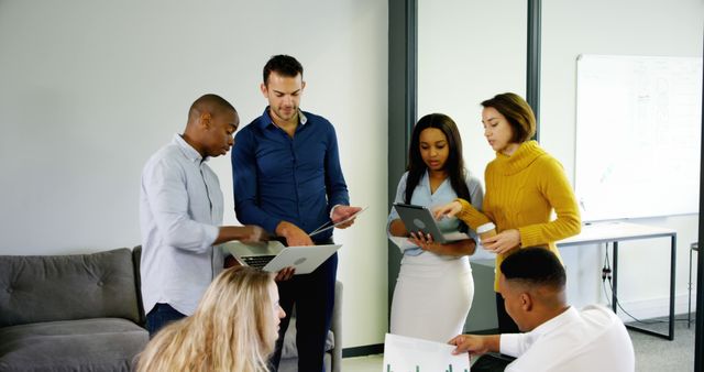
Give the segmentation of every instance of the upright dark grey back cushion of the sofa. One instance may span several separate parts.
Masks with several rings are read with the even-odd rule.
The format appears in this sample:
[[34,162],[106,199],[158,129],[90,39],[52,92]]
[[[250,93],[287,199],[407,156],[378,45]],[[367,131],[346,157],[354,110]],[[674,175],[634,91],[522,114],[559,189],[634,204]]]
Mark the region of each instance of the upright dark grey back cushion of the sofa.
[[0,255],[0,327],[36,321],[140,321],[132,252]]

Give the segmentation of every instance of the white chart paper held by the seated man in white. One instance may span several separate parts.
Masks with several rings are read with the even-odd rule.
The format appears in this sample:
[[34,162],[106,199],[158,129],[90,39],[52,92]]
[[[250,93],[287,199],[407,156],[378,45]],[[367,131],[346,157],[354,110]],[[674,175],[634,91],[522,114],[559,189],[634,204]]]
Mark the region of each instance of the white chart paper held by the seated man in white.
[[452,350],[452,344],[386,333],[382,372],[469,372],[469,354]]

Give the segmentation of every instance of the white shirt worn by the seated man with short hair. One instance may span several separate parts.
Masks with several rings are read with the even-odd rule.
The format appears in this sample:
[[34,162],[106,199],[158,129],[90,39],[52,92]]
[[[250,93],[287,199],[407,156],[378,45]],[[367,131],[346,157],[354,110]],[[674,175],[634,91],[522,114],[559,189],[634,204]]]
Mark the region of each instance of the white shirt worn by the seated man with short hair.
[[570,307],[527,333],[501,336],[501,352],[518,357],[506,372],[632,372],[634,347],[622,320],[603,306]]

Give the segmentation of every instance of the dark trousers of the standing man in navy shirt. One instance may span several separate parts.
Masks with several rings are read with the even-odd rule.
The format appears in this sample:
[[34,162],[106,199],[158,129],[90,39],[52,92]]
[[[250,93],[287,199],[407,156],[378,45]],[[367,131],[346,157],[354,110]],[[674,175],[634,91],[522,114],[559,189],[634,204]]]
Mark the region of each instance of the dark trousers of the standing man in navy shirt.
[[292,310],[296,307],[296,348],[298,371],[324,371],[326,339],[332,321],[334,306],[334,282],[338,274],[338,254],[333,254],[310,274],[294,275],[288,281],[277,282],[279,305],[286,311],[276,340],[276,350],[270,363],[278,370],[284,335],[288,329]]

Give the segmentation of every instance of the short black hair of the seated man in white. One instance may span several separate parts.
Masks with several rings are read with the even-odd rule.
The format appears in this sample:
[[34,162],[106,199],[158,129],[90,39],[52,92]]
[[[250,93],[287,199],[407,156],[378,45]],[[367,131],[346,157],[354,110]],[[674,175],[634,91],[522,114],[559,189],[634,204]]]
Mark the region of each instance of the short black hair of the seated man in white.
[[524,248],[502,262],[507,281],[564,288],[566,275],[558,256],[544,248]]

